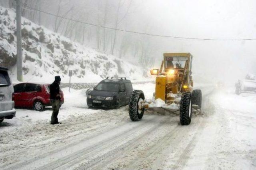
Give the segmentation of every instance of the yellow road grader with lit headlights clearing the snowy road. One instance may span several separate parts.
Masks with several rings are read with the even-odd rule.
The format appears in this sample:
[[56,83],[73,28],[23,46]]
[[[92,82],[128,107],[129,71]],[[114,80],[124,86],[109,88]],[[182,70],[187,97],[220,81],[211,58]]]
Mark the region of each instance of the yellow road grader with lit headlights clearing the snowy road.
[[192,58],[190,53],[164,53],[160,69],[150,70],[156,76],[156,91],[152,99],[145,99],[142,90],[134,90],[129,101],[132,121],[141,120],[147,108],[180,110],[180,124],[191,122],[192,105],[201,108],[202,92],[193,90]]

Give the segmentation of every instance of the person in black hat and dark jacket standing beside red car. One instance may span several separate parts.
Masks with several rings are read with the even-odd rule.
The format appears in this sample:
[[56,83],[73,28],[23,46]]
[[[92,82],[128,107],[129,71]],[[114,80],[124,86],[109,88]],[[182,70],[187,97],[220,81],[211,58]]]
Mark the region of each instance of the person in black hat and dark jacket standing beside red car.
[[55,76],[54,82],[50,85],[50,100],[52,104],[51,124],[60,124],[58,122],[58,113],[60,108],[60,76]]

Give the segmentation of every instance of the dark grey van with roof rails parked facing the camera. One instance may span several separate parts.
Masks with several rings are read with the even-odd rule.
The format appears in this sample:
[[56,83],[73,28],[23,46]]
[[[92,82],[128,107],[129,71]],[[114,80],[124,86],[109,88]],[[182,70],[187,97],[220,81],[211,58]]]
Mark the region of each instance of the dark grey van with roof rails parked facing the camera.
[[88,92],[89,108],[119,108],[129,103],[132,83],[126,78],[107,78],[102,80],[92,91]]

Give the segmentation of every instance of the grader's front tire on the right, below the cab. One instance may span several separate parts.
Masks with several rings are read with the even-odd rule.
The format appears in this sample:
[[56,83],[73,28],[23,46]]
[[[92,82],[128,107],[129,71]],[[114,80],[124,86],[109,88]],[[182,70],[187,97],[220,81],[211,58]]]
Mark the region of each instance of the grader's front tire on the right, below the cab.
[[191,94],[182,93],[180,99],[180,124],[189,125],[192,116]]

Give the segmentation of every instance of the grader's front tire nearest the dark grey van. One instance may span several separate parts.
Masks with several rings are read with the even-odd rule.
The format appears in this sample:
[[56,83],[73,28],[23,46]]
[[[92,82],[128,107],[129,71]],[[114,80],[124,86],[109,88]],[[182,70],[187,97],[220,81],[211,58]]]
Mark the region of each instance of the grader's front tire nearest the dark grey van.
[[134,90],[129,99],[129,116],[132,121],[139,121],[142,119],[145,108],[141,110],[138,108],[139,101],[145,99],[144,93],[142,90]]

